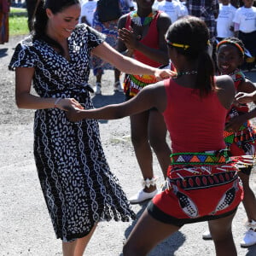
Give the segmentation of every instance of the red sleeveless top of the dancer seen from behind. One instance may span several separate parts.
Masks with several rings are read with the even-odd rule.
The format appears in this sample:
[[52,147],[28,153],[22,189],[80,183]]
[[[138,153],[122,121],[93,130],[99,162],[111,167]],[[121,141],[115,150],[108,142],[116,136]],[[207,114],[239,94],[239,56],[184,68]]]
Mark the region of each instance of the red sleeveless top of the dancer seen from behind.
[[225,148],[227,109],[217,93],[201,98],[198,90],[165,80],[167,106],[163,112],[172,141],[172,153],[202,152]]

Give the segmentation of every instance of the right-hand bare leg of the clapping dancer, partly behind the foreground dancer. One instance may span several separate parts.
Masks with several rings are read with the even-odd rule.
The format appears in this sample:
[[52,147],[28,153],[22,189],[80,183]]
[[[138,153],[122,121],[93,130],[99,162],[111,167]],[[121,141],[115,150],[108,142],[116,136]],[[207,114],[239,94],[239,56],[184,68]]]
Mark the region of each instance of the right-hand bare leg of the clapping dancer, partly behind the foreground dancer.
[[150,110],[148,120],[149,142],[160,163],[161,170],[166,178],[167,168],[170,164],[170,147],[166,143],[166,123],[161,113]]

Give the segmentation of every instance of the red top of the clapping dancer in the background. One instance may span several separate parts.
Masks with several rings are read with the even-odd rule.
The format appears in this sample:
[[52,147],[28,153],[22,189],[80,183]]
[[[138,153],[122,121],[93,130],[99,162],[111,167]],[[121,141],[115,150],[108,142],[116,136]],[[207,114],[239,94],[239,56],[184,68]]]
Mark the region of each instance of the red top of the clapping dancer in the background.
[[[142,44],[153,49],[159,49],[158,29],[157,29],[157,20],[159,15],[160,15],[160,11],[158,11],[157,14],[154,15],[154,19],[151,21],[148,27],[147,35],[140,40]],[[130,29],[130,26],[131,26],[131,16],[130,14],[128,14],[126,23],[125,23],[125,28]],[[147,64],[151,67],[160,67],[162,65],[160,62],[149,59],[146,55],[143,55],[143,53],[141,53],[140,51],[134,50],[133,55],[137,61],[141,61],[144,64]]]

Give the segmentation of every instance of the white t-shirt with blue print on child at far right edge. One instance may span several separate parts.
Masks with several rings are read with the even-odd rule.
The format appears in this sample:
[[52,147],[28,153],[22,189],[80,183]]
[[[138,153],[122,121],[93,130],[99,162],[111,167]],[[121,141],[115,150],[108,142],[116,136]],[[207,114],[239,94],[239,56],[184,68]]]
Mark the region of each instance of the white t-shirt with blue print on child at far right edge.
[[256,30],[256,7],[241,8],[236,10],[233,22],[239,24],[239,30],[244,33],[250,33]]

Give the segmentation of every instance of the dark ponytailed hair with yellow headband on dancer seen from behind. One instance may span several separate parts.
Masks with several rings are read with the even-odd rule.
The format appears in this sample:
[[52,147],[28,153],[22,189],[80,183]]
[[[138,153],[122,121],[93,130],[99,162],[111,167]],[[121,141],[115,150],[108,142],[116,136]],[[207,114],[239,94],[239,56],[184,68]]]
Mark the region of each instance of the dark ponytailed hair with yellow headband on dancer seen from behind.
[[216,89],[214,65],[208,53],[209,31],[206,23],[194,16],[186,16],[175,21],[166,32],[169,47],[175,47],[188,61],[197,61],[195,89],[206,96]]

